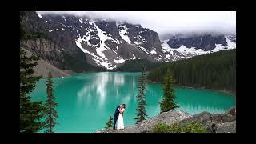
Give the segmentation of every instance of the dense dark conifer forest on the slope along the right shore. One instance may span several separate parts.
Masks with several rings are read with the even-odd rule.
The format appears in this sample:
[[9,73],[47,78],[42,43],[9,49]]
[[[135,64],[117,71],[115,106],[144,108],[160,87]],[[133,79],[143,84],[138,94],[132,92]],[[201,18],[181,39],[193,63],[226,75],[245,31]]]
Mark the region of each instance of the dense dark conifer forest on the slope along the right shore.
[[163,82],[167,68],[179,86],[236,91],[235,49],[168,62],[151,70],[148,79]]

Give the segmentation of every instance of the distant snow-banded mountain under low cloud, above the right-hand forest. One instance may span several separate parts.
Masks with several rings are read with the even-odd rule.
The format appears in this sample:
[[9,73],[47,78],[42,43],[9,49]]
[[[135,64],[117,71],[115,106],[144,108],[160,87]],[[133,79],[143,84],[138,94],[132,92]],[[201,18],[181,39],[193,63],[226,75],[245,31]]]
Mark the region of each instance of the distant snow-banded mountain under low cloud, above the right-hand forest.
[[[216,36],[214,34],[203,34],[186,38],[173,36],[170,39],[162,41],[162,49],[167,55],[166,62],[235,48],[235,35],[225,36],[220,34]],[[172,59],[170,59],[168,53],[172,54]]]

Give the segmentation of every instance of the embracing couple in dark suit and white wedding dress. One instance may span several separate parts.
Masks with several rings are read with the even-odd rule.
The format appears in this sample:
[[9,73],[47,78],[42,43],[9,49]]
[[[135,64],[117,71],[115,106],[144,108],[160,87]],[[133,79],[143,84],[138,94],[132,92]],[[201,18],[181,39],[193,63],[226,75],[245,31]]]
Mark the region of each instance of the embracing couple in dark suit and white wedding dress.
[[125,104],[121,104],[119,106],[117,106],[117,108],[115,109],[114,112],[114,126],[113,129],[124,129],[124,124],[123,124],[123,113],[126,110],[126,105]]

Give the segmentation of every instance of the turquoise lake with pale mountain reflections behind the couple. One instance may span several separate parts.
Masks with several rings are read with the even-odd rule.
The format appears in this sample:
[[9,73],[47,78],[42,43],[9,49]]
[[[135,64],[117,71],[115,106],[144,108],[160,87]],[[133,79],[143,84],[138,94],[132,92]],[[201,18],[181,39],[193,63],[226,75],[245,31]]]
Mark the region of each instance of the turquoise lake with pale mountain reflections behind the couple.
[[[54,95],[58,102],[58,133],[92,133],[106,126],[109,115],[121,102],[126,104],[125,126],[134,125],[138,77],[141,73],[101,72],[74,74],[66,78],[54,78]],[[42,78],[32,93],[33,101],[46,100],[46,79]],[[197,90],[175,87],[179,110],[190,114],[209,111],[222,113],[236,105],[234,95],[214,90]],[[158,102],[162,100],[162,86],[149,83],[146,86],[146,114],[159,114]],[[43,130],[41,131],[43,132]]]

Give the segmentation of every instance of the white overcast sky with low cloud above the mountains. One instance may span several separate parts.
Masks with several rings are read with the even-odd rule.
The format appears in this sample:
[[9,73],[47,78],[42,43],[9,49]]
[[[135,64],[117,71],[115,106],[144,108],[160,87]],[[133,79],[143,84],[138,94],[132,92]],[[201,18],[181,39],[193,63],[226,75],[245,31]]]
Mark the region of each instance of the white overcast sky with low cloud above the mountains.
[[221,32],[235,33],[235,11],[51,11],[39,14],[87,15],[141,24],[158,32],[160,37],[171,33]]

